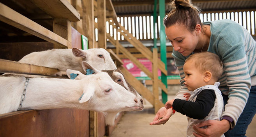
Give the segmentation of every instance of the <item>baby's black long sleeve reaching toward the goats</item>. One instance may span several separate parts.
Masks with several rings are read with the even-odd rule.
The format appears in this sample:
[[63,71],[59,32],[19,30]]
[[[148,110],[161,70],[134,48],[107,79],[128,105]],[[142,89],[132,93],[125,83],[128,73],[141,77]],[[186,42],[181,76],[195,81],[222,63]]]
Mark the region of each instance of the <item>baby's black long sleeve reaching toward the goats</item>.
[[214,107],[216,95],[214,90],[202,90],[195,102],[175,99],[173,109],[194,119],[204,119]]

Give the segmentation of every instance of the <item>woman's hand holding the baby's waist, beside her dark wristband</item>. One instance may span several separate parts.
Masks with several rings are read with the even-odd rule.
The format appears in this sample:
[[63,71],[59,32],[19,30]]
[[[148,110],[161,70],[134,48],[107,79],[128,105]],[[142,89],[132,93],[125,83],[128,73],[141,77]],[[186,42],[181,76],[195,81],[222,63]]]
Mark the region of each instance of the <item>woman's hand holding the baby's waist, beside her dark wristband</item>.
[[[200,128],[202,126],[208,126],[207,128]],[[207,120],[193,125],[194,130],[197,133],[193,133],[196,137],[220,137],[222,134],[230,129],[230,123],[226,119]]]

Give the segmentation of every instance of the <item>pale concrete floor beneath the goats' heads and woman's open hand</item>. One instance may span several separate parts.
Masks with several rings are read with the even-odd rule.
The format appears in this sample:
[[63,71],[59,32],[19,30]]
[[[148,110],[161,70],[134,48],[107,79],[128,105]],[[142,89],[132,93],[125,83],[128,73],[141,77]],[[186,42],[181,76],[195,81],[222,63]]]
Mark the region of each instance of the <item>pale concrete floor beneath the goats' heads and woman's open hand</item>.
[[[174,96],[168,96],[168,100]],[[145,109],[137,112],[125,112],[110,137],[185,137],[187,117],[180,113],[171,116],[164,125],[149,125],[154,119],[154,108],[145,100]],[[246,133],[247,137],[256,137],[256,117]]]

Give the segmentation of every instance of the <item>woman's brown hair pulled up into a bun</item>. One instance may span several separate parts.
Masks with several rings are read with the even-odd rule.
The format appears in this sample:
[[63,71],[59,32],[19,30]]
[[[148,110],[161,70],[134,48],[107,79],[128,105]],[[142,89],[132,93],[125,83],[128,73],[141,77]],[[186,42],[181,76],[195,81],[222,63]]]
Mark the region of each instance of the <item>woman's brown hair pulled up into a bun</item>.
[[173,0],[169,5],[172,10],[164,18],[165,27],[169,27],[175,24],[184,25],[190,32],[192,32],[197,24],[201,23],[200,9],[193,4],[190,0]]

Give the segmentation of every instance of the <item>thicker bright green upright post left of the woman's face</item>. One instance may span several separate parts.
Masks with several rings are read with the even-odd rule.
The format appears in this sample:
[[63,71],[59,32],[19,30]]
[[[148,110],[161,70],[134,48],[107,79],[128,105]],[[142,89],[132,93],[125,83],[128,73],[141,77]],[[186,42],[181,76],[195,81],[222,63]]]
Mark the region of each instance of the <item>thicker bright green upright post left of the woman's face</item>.
[[[160,8],[161,7],[161,8]],[[166,35],[164,30],[163,19],[165,17],[165,0],[159,0],[159,15],[160,15],[160,53],[161,53],[161,60],[165,64],[165,69],[167,69],[167,59],[166,59]],[[167,76],[161,73],[161,80],[162,83],[166,85],[167,88]],[[162,102],[165,104],[167,102],[167,94],[162,91]]]

